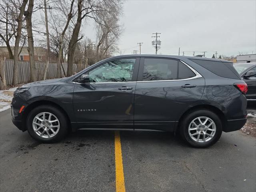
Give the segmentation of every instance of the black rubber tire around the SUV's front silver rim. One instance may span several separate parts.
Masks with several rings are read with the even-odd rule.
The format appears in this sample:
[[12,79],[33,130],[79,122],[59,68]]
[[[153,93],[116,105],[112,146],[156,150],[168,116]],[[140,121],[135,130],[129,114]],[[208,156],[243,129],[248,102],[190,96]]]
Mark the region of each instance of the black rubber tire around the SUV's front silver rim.
[[[50,112],[51,114],[54,114],[60,122],[60,128],[58,130],[58,133],[50,138],[42,138],[33,129],[33,119],[37,114],[40,114],[41,112]],[[32,138],[39,142],[43,143],[54,143],[62,140],[66,134],[68,133],[68,120],[66,116],[56,107],[50,106],[50,105],[40,105],[31,110],[31,112],[28,114],[27,122],[26,122],[28,133]]]

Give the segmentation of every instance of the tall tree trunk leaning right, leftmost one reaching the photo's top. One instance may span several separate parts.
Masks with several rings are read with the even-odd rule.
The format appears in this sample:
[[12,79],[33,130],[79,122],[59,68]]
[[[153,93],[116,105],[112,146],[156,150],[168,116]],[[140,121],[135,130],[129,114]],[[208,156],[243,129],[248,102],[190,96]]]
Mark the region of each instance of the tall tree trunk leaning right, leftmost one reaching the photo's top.
[[28,0],[23,0],[22,6],[20,7],[20,14],[18,17],[18,27],[16,30],[15,36],[15,46],[14,46],[14,62],[13,62],[13,78],[12,78],[12,86],[16,86],[18,84],[18,54],[19,54],[19,46],[20,46],[20,38],[21,38],[21,30],[22,30],[22,16],[24,14],[24,10]]

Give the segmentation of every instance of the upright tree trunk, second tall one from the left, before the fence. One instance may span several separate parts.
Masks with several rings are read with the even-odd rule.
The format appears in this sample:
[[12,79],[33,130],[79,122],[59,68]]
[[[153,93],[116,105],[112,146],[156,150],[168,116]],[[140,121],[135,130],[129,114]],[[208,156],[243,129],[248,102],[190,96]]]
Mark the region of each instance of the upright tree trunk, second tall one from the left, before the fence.
[[34,82],[37,80],[36,76],[36,64],[34,58],[34,40],[33,40],[33,32],[32,32],[32,11],[34,7],[34,0],[29,0],[28,2],[28,10],[24,12],[24,16],[26,19],[26,27],[28,32],[28,54],[29,54],[29,62],[30,62],[30,82]]

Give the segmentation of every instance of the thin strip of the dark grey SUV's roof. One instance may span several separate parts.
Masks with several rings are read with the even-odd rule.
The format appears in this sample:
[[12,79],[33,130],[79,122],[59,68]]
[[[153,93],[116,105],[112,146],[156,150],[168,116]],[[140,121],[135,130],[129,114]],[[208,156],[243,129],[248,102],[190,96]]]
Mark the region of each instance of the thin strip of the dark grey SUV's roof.
[[217,58],[205,58],[205,57],[193,57],[193,56],[178,56],[178,55],[155,55],[155,54],[130,54],[130,55],[120,55],[114,56],[112,58],[125,58],[125,57],[160,57],[160,58],[174,58],[174,59],[198,59],[198,60],[211,60],[211,61],[221,61],[221,62],[229,62],[231,61],[217,59]]

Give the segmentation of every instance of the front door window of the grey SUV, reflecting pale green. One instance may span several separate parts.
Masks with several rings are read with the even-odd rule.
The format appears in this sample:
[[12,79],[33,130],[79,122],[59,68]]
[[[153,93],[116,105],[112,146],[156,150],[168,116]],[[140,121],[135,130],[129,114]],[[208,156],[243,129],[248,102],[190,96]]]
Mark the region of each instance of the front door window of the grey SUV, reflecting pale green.
[[107,62],[89,71],[90,82],[132,81],[136,58],[119,59]]

